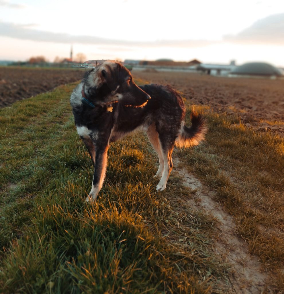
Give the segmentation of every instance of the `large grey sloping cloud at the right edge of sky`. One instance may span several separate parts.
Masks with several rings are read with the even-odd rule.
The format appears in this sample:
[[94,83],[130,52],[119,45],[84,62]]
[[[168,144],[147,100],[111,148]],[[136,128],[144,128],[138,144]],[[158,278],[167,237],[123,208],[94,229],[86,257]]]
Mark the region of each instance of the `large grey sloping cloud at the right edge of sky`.
[[284,13],[260,19],[239,34],[224,36],[224,41],[284,45]]

